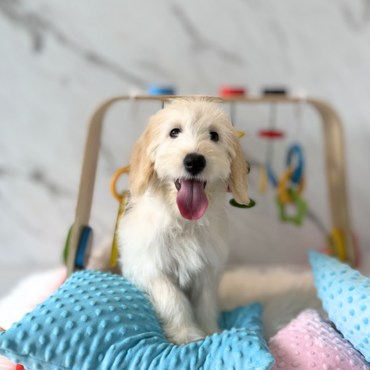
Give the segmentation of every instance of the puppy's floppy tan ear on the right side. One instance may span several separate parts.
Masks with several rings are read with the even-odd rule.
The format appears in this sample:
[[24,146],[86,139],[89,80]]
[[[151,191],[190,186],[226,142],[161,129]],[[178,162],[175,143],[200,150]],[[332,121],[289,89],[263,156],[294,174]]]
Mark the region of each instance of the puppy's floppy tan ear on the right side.
[[249,204],[247,189],[247,176],[249,174],[249,164],[244,157],[244,151],[239,142],[237,133],[233,135],[232,146],[234,157],[231,158],[230,188],[235,201],[239,204]]

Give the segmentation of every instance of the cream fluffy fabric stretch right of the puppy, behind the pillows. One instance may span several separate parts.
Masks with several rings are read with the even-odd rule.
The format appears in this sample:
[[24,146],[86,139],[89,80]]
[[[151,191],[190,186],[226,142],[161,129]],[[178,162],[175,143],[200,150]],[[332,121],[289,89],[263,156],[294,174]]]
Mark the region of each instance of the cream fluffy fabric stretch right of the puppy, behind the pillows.
[[219,287],[221,310],[258,301],[263,306],[263,333],[269,339],[307,308],[327,318],[317,298],[312,271],[298,266],[237,267],[227,270]]

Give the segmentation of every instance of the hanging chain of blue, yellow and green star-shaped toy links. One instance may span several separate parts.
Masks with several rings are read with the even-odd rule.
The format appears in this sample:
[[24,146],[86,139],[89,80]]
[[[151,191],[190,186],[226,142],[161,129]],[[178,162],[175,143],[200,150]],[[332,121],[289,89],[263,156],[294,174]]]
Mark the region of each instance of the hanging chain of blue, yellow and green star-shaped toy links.
[[[291,221],[297,225],[303,223],[305,211],[308,208],[307,203],[301,199],[301,192],[305,187],[303,177],[303,151],[298,144],[290,147],[287,153],[287,169],[278,181],[278,196],[276,202],[280,210],[280,219],[282,221]],[[295,216],[288,216],[285,205],[294,203],[298,209]]]

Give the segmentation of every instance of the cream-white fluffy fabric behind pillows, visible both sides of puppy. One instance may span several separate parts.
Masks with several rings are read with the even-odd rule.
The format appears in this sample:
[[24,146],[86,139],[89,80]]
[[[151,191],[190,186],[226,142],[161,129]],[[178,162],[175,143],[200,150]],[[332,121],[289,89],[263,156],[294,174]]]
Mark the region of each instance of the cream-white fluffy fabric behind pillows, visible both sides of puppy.
[[[112,249],[112,241],[109,248]],[[101,271],[101,268],[108,268],[110,251],[97,251],[99,253],[92,254],[94,260],[90,260],[90,267]],[[101,262],[104,258],[106,263]],[[22,319],[26,312],[32,311],[60,287],[65,275],[65,269],[54,269],[24,278],[10,294],[0,299],[0,326],[8,329]],[[311,269],[302,267],[240,266],[228,269],[219,287],[220,310],[231,310],[255,301],[262,303],[264,337],[269,339],[306,308],[314,308],[327,317],[313,282]]]

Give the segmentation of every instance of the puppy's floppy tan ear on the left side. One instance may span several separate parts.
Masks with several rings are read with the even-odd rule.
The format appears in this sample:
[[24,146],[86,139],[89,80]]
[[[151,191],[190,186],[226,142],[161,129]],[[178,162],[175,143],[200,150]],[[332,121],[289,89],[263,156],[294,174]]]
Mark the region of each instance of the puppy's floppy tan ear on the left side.
[[134,196],[144,194],[154,175],[154,164],[149,153],[149,132],[145,131],[142,137],[133,146],[130,160],[130,192]]

